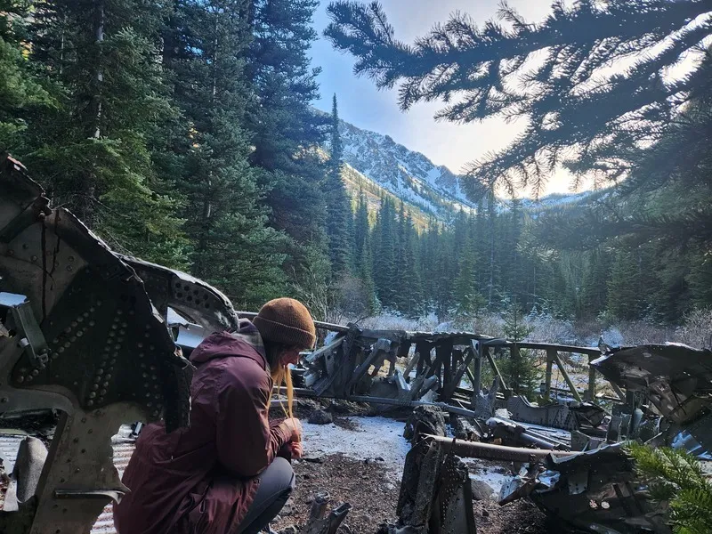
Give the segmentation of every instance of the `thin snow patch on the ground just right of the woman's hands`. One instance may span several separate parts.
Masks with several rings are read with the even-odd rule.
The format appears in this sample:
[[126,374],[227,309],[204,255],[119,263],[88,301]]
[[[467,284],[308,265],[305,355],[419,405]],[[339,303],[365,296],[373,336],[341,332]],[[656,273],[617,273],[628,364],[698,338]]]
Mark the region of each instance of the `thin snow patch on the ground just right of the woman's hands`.
[[303,422],[303,448],[306,457],[343,454],[358,460],[383,458],[384,467],[394,481],[401,481],[410,444],[403,437],[404,425],[386,417],[345,417],[355,428],[335,424],[311,425]]

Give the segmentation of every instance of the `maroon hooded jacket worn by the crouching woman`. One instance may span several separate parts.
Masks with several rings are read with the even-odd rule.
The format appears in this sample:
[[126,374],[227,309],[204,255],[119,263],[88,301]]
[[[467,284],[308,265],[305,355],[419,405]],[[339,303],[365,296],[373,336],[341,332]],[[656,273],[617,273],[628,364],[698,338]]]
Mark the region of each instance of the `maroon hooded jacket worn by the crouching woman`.
[[214,333],[190,355],[190,428],[144,427],[114,506],[120,534],[226,534],[237,530],[262,472],[287,443],[270,425],[272,388],[262,340],[249,321]]

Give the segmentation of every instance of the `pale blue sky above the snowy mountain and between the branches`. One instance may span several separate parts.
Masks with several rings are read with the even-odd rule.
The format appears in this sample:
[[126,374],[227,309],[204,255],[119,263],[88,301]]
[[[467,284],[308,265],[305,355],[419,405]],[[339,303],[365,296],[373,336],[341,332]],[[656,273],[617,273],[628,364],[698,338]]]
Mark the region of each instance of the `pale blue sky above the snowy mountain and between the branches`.
[[[412,42],[436,22],[447,20],[451,12],[467,12],[478,22],[489,20],[496,16],[499,0],[381,0],[381,4],[396,37]],[[549,12],[551,0],[510,0],[509,4],[525,19],[538,21]],[[338,53],[321,37],[328,25],[327,5],[328,1],[322,1],[314,17],[320,40],[312,47],[312,62],[323,69],[317,108],[330,110],[331,97],[336,93],[339,114],[344,120],[390,135],[394,141],[424,153],[435,164],[448,166],[454,172],[490,150],[505,147],[521,130],[522,125],[506,125],[498,119],[473,125],[436,122],[433,115],[441,107],[438,102],[417,104],[407,113],[401,112],[395,89],[378,91],[368,78],[355,77],[352,56]],[[567,189],[566,177],[559,175],[553,177],[547,192]]]

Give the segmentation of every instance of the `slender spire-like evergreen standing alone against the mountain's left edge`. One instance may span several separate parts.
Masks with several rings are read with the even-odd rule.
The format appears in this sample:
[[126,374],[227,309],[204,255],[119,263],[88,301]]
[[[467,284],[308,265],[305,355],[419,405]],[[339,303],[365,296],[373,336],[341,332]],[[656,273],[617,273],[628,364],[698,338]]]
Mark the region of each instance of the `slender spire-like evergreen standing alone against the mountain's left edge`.
[[351,263],[349,239],[352,235],[351,199],[346,191],[341,169],[344,166],[344,147],[339,134],[339,114],[336,94],[331,110],[331,158],[326,177],[327,234],[329,257],[335,274],[342,274]]

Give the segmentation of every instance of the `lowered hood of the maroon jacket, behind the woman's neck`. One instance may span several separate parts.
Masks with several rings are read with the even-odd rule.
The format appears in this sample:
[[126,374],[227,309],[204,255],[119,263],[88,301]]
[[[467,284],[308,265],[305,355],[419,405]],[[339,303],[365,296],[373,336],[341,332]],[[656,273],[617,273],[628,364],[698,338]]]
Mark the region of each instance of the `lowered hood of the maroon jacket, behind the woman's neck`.
[[214,332],[207,336],[190,353],[190,363],[200,365],[208,360],[226,356],[251,358],[263,368],[269,369],[262,337],[255,325],[247,319],[239,320],[237,332]]

